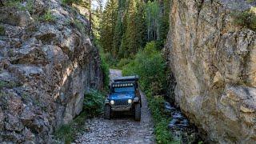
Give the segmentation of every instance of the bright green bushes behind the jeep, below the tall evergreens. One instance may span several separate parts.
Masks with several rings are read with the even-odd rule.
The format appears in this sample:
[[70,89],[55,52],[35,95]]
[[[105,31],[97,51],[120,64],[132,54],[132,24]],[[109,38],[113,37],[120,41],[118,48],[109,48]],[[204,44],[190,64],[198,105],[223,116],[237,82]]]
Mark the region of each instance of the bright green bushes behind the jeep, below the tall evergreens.
[[123,67],[122,74],[138,74],[143,90],[151,90],[153,94],[165,92],[166,64],[162,54],[156,49],[155,42],[146,44],[143,51],[136,54],[133,62]]

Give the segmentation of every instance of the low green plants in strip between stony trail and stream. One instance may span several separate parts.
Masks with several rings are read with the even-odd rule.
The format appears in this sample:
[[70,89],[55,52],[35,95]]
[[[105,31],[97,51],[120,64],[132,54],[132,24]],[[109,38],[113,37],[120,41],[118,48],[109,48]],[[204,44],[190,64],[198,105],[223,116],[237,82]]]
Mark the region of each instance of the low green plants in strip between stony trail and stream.
[[176,143],[172,138],[168,124],[170,116],[165,113],[164,98],[162,96],[152,96],[147,94],[148,104],[154,119],[154,134],[158,144]]

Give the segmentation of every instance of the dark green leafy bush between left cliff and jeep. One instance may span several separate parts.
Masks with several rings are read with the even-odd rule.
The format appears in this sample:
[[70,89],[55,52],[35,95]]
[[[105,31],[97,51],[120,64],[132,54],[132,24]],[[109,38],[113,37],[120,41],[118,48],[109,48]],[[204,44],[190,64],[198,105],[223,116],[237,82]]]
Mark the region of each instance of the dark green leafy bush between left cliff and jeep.
[[101,114],[104,100],[104,94],[100,93],[98,90],[91,90],[90,93],[85,94],[83,110],[90,116]]

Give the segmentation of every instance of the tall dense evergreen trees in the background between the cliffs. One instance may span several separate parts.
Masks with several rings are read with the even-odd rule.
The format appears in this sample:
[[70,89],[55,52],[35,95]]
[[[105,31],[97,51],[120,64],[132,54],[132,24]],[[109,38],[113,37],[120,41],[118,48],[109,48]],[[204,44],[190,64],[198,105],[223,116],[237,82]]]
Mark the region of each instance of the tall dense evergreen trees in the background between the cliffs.
[[103,50],[121,59],[133,57],[146,42],[163,46],[169,11],[169,0],[108,0],[101,22]]

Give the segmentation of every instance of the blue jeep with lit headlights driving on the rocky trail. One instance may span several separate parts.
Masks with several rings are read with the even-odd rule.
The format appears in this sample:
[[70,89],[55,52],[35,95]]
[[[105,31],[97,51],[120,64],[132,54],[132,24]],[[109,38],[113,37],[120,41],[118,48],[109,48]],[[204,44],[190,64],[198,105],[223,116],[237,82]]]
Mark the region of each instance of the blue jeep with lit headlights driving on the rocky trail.
[[105,100],[105,118],[110,119],[115,111],[130,111],[135,120],[140,121],[141,106],[138,76],[114,78],[110,85],[110,94]]

